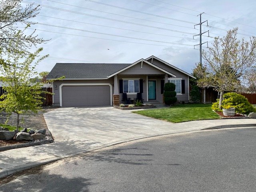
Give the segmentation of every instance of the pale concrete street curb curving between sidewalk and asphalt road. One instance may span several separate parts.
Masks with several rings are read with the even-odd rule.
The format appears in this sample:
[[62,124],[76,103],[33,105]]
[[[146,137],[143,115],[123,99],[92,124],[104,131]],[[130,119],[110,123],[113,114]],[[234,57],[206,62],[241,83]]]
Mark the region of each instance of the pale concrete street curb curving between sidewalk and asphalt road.
[[223,128],[239,128],[239,127],[256,127],[256,124],[233,124],[233,125],[212,126],[212,127],[203,128],[203,129],[196,129],[195,128],[195,129],[186,130],[186,131],[165,132],[165,133],[162,133],[162,134],[152,134],[152,135],[148,135],[148,136],[139,136],[137,138],[128,138],[128,139],[125,139],[125,140],[104,144],[102,146],[96,146],[94,148],[89,148],[89,149],[76,151],[74,153],[66,154],[66,155],[63,155],[63,156],[56,156],[56,157],[53,157],[53,158],[39,160],[39,161],[36,161],[36,162],[31,162],[31,163],[28,163],[28,164],[24,164],[24,165],[21,165],[21,166],[14,166],[14,167],[11,167],[9,170],[4,170],[3,169],[3,170],[0,170],[0,179],[4,178],[6,176],[9,176],[11,174],[14,174],[16,172],[20,172],[20,171],[23,171],[23,170],[34,168],[34,167],[37,167],[37,166],[40,166],[40,165],[49,164],[49,163],[52,163],[52,162],[55,162],[55,161],[58,161],[58,160],[61,160],[61,159],[64,159],[64,158],[68,158],[68,157],[72,157],[72,156],[76,156],[76,155],[80,155],[80,154],[85,154],[85,153],[92,152],[92,151],[95,151],[95,150],[99,150],[99,149],[102,149],[102,148],[110,147],[110,146],[113,146],[113,145],[116,145],[116,144],[122,144],[122,143],[126,143],[126,142],[131,142],[131,141],[136,141],[136,140],[141,140],[141,139],[146,139],[146,138],[153,138],[153,137],[157,137],[157,136],[171,135],[171,134],[181,134],[181,133],[189,133],[189,132],[201,131],[201,130],[223,129]]

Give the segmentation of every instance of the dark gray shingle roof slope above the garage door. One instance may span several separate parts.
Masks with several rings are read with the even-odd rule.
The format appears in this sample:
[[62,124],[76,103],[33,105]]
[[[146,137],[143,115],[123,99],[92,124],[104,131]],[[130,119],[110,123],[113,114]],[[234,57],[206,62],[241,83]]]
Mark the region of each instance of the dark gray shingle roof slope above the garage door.
[[56,63],[47,79],[100,79],[126,68],[130,63]]

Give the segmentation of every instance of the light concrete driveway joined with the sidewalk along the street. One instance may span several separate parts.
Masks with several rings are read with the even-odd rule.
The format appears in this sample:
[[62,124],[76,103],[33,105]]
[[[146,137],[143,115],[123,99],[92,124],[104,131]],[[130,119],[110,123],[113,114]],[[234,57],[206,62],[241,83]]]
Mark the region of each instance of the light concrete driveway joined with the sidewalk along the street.
[[46,113],[45,119],[55,142],[0,152],[0,178],[62,158],[141,138],[210,128],[256,127],[256,119],[200,120],[173,124],[114,108],[59,108]]

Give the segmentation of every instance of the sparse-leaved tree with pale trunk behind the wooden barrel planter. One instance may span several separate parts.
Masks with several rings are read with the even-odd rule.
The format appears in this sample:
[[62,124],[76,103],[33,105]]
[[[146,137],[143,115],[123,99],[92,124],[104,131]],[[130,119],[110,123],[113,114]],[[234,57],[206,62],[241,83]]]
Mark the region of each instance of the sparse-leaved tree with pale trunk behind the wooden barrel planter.
[[212,47],[202,52],[205,65],[198,69],[203,77],[198,80],[202,88],[212,87],[220,92],[219,108],[224,91],[234,91],[240,87],[240,79],[252,70],[256,60],[256,37],[250,41],[237,40],[238,28],[229,30],[223,38],[216,37]]

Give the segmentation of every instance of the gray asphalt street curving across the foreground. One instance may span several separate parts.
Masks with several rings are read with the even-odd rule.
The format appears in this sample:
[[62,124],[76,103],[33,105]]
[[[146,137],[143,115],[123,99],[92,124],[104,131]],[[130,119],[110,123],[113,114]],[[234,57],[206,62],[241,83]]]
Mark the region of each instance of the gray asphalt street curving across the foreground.
[[172,135],[68,158],[0,192],[255,192],[256,128]]

